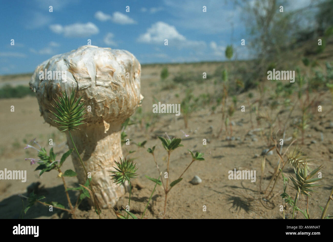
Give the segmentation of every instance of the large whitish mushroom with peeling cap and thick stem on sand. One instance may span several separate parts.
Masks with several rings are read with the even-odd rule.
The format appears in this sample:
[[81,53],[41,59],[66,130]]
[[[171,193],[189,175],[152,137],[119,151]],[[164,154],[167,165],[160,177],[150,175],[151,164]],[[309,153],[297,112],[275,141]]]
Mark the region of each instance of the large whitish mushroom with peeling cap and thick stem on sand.
[[[47,71],[47,75],[43,71]],[[55,73],[58,78],[54,78]],[[113,207],[126,192],[126,187],[112,183],[109,171],[114,170],[114,160],[123,158],[121,125],[143,99],[140,77],[141,65],[130,52],[82,46],[44,61],[37,66],[29,82],[36,92],[41,116],[53,126],[57,124],[51,118],[56,117],[49,110],[54,111],[56,95],[61,91],[70,93],[75,88],[78,96],[83,96],[87,107],[86,124],[72,132],[72,136],[88,174],[91,173],[101,208]],[[68,133],[67,143],[74,148]],[[78,180],[84,184],[87,177],[75,152],[72,160]]]

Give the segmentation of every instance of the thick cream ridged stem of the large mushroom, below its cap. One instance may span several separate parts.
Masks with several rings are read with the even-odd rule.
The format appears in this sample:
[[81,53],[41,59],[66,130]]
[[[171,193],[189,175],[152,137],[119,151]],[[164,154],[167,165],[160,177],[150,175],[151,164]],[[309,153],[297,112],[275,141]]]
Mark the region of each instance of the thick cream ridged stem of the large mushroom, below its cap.
[[[75,148],[75,143],[77,148],[77,153],[72,153],[72,160],[78,180],[84,184],[87,176],[91,177],[91,187],[96,191],[100,207],[112,208],[119,197],[125,194],[125,187],[114,184],[109,177],[109,171],[115,170],[114,160],[123,157],[121,124],[116,123],[107,131],[103,122],[87,123],[80,128],[79,131],[72,132],[72,135],[67,135],[69,147]],[[91,199],[89,202],[94,204]]]

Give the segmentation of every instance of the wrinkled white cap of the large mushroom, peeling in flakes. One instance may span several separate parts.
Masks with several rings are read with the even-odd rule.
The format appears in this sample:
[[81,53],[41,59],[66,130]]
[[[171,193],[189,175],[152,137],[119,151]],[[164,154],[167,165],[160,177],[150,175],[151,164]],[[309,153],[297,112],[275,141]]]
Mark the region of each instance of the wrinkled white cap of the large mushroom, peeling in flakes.
[[[66,71],[66,82],[39,79],[40,71]],[[130,78],[126,78],[127,72]],[[141,65],[126,50],[112,50],[97,46],[82,46],[77,50],[56,55],[36,69],[29,82],[36,92],[41,114],[46,122],[55,118],[53,110],[56,94],[74,87],[78,97],[83,95],[87,112],[85,122],[124,122],[131,116],[143,96],[140,94]]]

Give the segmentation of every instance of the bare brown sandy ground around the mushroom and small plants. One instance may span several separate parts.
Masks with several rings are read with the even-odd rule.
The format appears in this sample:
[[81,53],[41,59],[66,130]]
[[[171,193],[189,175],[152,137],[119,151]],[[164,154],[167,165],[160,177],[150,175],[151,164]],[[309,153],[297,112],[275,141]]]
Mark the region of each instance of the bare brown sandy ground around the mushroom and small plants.
[[[188,65],[171,65],[169,78],[180,70],[195,70],[197,72],[206,71],[208,74],[213,74],[214,70],[220,64],[188,64]],[[143,122],[148,122],[152,114],[153,96],[162,103],[180,103],[184,96],[186,87],[176,85],[172,89],[161,90],[163,83],[160,80],[159,73],[161,66],[147,66],[142,69],[142,94],[145,99],[142,103]],[[28,83],[29,80],[26,81]],[[162,83],[162,84],[161,84]],[[199,95],[203,92],[213,93],[216,86],[213,84],[213,79],[207,79],[203,83],[192,85],[194,95]],[[269,85],[267,86],[269,88]],[[259,97],[256,90],[252,90],[255,100]],[[178,94],[178,95],[176,95]],[[296,95],[296,94],[295,94]],[[249,102],[247,93],[242,93],[237,96],[237,110],[232,116],[232,121],[235,125],[232,126],[232,136],[235,140],[231,142],[226,140],[226,134],[223,131],[217,137],[218,131],[222,125],[221,122],[221,105],[216,108],[216,112],[212,113],[211,107],[206,106],[199,108],[192,113],[188,128],[185,129],[182,115],[175,116],[174,114],[159,114],[157,122],[148,128],[140,125],[132,125],[126,129],[128,137],[133,142],[142,142],[147,140],[145,148],[137,148],[133,142],[131,145],[123,145],[124,154],[128,154],[130,150],[137,150],[135,153],[128,155],[130,158],[135,158],[139,174],[137,179],[133,181],[133,195],[131,201],[131,211],[138,216],[142,214],[146,203],[149,199],[154,183],[147,180],[145,175],[150,177],[158,177],[158,172],[153,160],[153,157],[147,152],[148,147],[156,145],[157,161],[161,171],[166,170],[166,152],[162,147],[158,135],[182,137],[184,131],[189,136],[182,140],[184,147],[177,148],[170,159],[170,174],[171,181],[178,178],[182,171],[191,161],[191,156],[187,149],[193,152],[198,151],[204,153],[205,161],[196,161],[186,171],[183,176],[183,181],[177,184],[168,195],[167,202],[167,218],[282,218],[282,213],[279,211],[279,206],[284,205],[279,196],[283,191],[282,178],[274,188],[274,198],[271,203],[265,203],[262,199],[262,194],[259,191],[259,180],[261,177],[260,167],[262,157],[260,155],[263,149],[268,148],[266,137],[260,132],[253,132],[256,139],[252,139],[248,131],[252,129],[249,112],[241,112],[241,105],[245,105],[246,110],[249,110]],[[264,102],[265,103],[265,102]],[[15,112],[10,112],[10,107],[14,105]],[[327,111],[332,107],[332,97],[329,91],[321,95],[320,105],[323,107],[322,113],[317,113],[310,122],[309,128],[305,132],[303,152],[315,158],[315,166],[323,164],[325,168],[322,170],[322,176],[325,177],[320,182],[316,190],[317,193],[309,200],[309,211],[311,218],[320,218],[321,210],[319,206],[325,206],[329,193],[333,184],[333,127],[330,127],[330,122],[333,121],[332,112]],[[265,104],[264,104],[264,108]],[[324,115],[325,114],[325,115]],[[254,115],[254,114],[253,114]],[[139,115],[134,115],[136,118]],[[279,114],[280,122],[276,122],[274,132],[279,128],[283,129],[284,120],[288,116],[285,111]],[[289,123],[292,120],[300,117],[300,110],[296,108]],[[267,132],[268,124],[261,121],[258,125],[254,120],[254,128],[263,128]],[[67,204],[64,187],[61,179],[57,178],[57,173],[51,171],[44,173],[41,177],[38,172],[34,172],[35,165],[30,165],[25,158],[36,157],[34,150],[26,149],[25,143],[33,138],[42,147],[47,150],[49,139],[54,142],[54,151],[62,153],[67,151],[66,138],[56,128],[46,124],[40,117],[37,99],[35,97],[25,97],[22,99],[1,99],[0,100],[0,170],[27,170],[27,181],[20,180],[0,180],[0,218],[18,218],[22,210],[22,200],[18,194],[27,195],[27,187],[33,182],[41,182],[44,186],[40,189],[39,194],[45,194],[45,201],[58,201],[62,204]],[[287,126],[286,138],[292,136],[294,129],[290,125]],[[321,140],[323,133],[323,141]],[[278,133],[278,137],[282,134]],[[298,136],[298,138],[300,138]],[[207,140],[207,144],[203,145],[203,139]],[[278,138],[279,139],[279,138]],[[315,141],[315,142],[311,142]],[[290,144],[291,140],[286,141],[284,149]],[[298,142],[299,143],[299,142]],[[266,187],[269,183],[269,177],[273,173],[273,169],[279,161],[276,153],[266,157],[265,174],[262,179],[262,187]],[[236,168],[237,170],[255,170],[256,182],[250,180],[229,180],[228,171]],[[68,158],[64,163],[63,170],[74,169],[71,158]],[[193,176],[199,176],[202,182],[197,185],[192,185],[189,181]],[[286,166],[284,175],[293,175],[291,166]],[[76,178],[66,178],[69,185],[77,186]],[[294,190],[289,186],[287,192],[294,196]],[[76,201],[76,193],[71,192],[71,200]],[[128,202],[128,193],[120,199],[117,206],[126,206]],[[300,200],[302,198],[300,197]],[[26,201],[24,200],[26,203]],[[272,206],[272,209],[266,207]],[[302,200],[301,208],[305,209],[305,200]],[[203,206],[207,210],[203,211]],[[161,218],[164,207],[164,192],[161,186],[158,186],[152,201],[146,211],[145,218]],[[93,210],[88,210],[89,207],[83,203],[78,211],[80,218],[97,218]],[[291,208],[285,210],[286,216],[291,217]],[[333,204],[330,205],[327,215],[333,215]],[[302,214],[298,218],[302,218]],[[54,209],[50,212],[48,207],[40,204],[30,208],[25,218],[66,218],[65,213],[60,213]],[[102,218],[116,218],[113,211],[103,210]]]

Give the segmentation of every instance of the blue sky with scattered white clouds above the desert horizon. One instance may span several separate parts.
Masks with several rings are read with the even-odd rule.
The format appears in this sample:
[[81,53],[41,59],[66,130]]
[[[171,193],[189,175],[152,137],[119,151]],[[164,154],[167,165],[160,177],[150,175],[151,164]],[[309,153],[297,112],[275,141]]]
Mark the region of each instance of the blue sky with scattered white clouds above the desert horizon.
[[241,16],[240,6],[224,0],[2,1],[0,74],[33,72],[88,39],[91,45],[128,50],[142,64],[221,61],[228,44],[235,48],[234,58],[246,59]]

